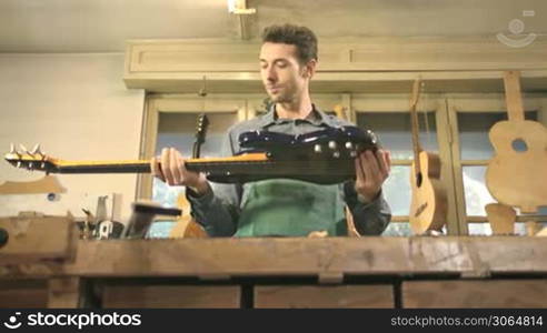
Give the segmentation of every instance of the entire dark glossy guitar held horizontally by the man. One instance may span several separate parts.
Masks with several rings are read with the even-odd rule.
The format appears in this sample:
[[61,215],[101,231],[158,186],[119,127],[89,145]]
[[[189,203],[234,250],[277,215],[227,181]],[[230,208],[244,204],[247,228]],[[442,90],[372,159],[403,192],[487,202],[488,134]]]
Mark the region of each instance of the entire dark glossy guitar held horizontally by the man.
[[[209,181],[245,183],[287,178],[336,184],[355,179],[354,159],[365,150],[376,151],[377,138],[356,127],[329,128],[301,135],[269,131],[245,132],[239,154],[226,158],[188,159],[186,168],[203,172]],[[12,165],[47,173],[148,173],[150,161],[63,161],[36,149],[17,151],[4,159]]]

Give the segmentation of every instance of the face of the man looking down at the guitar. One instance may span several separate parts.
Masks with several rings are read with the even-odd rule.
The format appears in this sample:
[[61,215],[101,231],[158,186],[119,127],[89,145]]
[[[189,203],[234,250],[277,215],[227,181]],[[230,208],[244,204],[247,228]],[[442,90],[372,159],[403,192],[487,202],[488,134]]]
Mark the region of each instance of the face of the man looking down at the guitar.
[[307,89],[310,75],[298,62],[296,46],[266,42],[260,49],[260,77],[271,101],[287,103]]

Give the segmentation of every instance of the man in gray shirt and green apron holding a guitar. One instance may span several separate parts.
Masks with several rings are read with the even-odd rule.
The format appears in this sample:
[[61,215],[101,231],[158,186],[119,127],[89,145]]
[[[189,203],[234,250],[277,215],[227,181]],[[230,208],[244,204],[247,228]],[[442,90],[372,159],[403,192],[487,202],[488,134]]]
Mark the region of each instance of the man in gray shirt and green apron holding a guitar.
[[[309,82],[317,67],[317,39],[305,27],[265,29],[260,75],[270,100],[262,117],[238,123],[228,133],[222,155],[239,151],[238,137],[251,130],[302,134],[327,127],[350,125],[315,108]],[[306,236],[327,231],[347,235],[345,204],[360,234],[380,234],[391,218],[381,185],[390,170],[389,153],[362,152],[355,160],[356,181],[319,185],[287,179],[245,184],[210,184],[202,173],[185,168],[185,158],[163,149],[152,172],[169,185],[185,185],[192,214],[211,236]]]

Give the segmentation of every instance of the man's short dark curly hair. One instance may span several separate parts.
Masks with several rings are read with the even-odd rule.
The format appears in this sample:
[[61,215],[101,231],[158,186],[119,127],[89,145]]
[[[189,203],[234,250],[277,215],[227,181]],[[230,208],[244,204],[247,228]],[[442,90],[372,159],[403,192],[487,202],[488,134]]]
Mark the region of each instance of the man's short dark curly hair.
[[270,26],[263,29],[262,43],[285,43],[296,46],[301,64],[317,60],[317,37],[310,29],[294,24]]

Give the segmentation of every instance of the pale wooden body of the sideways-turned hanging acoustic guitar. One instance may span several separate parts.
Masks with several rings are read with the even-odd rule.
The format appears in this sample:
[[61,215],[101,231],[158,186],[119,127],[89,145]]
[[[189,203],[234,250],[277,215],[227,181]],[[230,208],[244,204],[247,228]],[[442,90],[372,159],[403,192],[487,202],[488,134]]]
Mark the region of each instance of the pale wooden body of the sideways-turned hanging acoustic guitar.
[[420,170],[416,170],[416,162],[412,161],[410,171],[412,200],[409,222],[414,234],[422,234],[429,230],[440,231],[446,223],[447,213],[446,191],[440,182],[439,157],[421,151],[419,160]]

